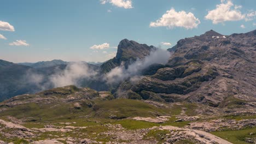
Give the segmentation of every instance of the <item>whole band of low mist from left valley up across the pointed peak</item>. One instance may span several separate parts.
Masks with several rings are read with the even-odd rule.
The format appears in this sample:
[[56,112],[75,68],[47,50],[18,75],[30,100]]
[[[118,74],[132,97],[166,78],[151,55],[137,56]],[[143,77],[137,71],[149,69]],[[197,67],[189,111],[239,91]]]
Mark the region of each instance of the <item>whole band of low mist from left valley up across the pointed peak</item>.
[[[75,85],[78,87],[87,86],[90,81],[100,81],[108,85],[116,84],[124,80],[130,80],[135,83],[143,78],[142,71],[152,64],[166,64],[170,58],[170,52],[162,49],[156,49],[144,59],[137,59],[132,64],[125,67],[121,64],[115,67],[109,73],[98,73],[95,67],[84,62],[68,63],[65,67],[56,67],[50,69],[50,73],[45,74],[40,70],[27,71],[26,81],[31,86],[36,86],[38,91],[49,88]],[[54,71],[54,72],[53,72]]]

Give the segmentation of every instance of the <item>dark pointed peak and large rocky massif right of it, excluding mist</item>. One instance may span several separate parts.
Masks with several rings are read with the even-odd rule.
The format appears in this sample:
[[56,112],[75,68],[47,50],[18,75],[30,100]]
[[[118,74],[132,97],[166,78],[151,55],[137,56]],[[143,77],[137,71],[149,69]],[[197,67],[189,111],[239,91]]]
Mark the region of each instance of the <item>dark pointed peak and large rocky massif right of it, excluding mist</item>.
[[[187,101],[216,107],[236,99],[243,102],[235,105],[255,106],[255,35],[256,30],[231,35],[211,30],[181,39],[168,49],[173,55],[166,65],[151,65],[136,81],[131,82],[129,77],[114,86],[108,85],[104,74],[121,64],[127,68],[137,58],[143,59],[156,49],[124,39],[118,45],[117,55],[100,67],[95,66],[99,73],[94,79],[84,81],[83,86],[111,91],[116,98]],[[2,62],[2,65],[12,63]],[[62,69],[65,68],[63,65]]]

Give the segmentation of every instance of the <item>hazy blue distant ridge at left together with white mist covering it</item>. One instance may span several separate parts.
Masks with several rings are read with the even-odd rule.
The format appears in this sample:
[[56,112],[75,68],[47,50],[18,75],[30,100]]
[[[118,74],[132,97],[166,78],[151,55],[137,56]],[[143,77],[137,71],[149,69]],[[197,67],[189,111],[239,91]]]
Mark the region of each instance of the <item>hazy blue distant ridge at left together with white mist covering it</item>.
[[[28,64],[29,65],[29,64]],[[54,60],[33,63],[31,66],[0,61],[0,101],[25,93],[76,84],[86,70],[96,70],[96,65],[86,62]],[[63,82],[65,81],[65,82]]]

